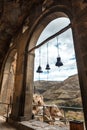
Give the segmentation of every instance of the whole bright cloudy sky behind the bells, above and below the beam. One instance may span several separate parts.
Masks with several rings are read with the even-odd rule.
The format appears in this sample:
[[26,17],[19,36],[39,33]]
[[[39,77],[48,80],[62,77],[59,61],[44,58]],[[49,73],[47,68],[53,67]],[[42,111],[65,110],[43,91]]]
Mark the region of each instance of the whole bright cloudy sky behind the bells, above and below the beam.
[[[70,23],[68,18],[57,18],[51,21],[46,28],[42,31],[37,45],[44,41],[46,38],[55,34],[65,26]],[[57,38],[58,38],[58,46],[57,47]],[[48,62],[50,65],[49,73],[47,72],[46,64],[47,64],[47,44],[48,44]],[[41,51],[39,56],[39,50]],[[63,66],[57,67],[55,63],[58,57],[61,57],[61,61],[63,62]],[[39,61],[41,60],[41,67],[43,73],[37,73],[37,68],[39,66]],[[40,48],[35,50],[35,65],[34,65],[34,81],[36,80],[49,80],[49,81],[63,81],[71,75],[77,74],[77,64],[75,58],[72,30],[68,29],[64,33],[50,40],[48,43],[44,44]]]

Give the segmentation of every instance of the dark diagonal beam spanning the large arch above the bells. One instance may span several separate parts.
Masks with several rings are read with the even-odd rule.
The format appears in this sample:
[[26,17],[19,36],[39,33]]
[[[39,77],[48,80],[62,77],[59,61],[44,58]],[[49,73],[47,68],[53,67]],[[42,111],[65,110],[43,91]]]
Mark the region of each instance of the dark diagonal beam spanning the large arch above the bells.
[[57,33],[55,33],[54,35],[48,37],[47,39],[45,39],[43,42],[41,42],[39,45],[34,46],[33,48],[31,48],[28,53],[30,53],[31,51],[39,48],[40,46],[44,45],[46,42],[50,41],[51,39],[55,38],[56,36],[60,35],[61,33],[65,32],[66,30],[68,30],[69,28],[71,28],[71,23],[66,26],[65,28],[61,29],[60,31],[58,31]]

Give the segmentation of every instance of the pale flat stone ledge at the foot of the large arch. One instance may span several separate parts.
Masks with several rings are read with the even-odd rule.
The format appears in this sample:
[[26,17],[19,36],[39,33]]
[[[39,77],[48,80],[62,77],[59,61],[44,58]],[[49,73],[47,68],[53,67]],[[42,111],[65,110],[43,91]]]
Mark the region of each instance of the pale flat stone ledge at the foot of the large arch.
[[68,127],[59,127],[59,126],[52,126],[45,122],[40,122],[36,120],[29,120],[29,121],[22,121],[22,122],[15,122],[9,121],[12,126],[16,127],[18,130],[69,130]]

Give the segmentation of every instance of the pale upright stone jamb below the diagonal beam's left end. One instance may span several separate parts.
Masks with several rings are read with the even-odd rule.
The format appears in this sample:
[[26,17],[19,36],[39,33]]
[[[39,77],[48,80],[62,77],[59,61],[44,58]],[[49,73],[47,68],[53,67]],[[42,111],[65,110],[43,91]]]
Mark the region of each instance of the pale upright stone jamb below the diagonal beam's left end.
[[33,78],[34,78],[34,54],[28,54],[27,60],[27,77],[25,91],[24,115],[26,118],[32,117],[32,99],[33,99]]

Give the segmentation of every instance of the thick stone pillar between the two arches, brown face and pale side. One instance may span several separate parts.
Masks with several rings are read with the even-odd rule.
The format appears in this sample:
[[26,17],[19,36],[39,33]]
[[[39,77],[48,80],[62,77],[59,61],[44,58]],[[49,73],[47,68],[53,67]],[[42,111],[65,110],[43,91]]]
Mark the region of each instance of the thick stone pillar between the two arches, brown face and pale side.
[[[32,87],[34,55],[25,52],[29,32],[19,35],[17,44],[17,68],[13,94],[13,106],[10,119],[29,120],[32,116]],[[9,121],[10,121],[9,119]]]

